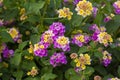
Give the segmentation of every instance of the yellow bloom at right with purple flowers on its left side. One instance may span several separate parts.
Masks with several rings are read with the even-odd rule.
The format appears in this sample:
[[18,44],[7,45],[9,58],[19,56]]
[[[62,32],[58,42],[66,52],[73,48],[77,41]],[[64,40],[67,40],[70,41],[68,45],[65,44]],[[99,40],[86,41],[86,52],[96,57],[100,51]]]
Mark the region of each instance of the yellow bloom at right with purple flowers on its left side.
[[104,44],[104,46],[108,46],[109,43],[113,42],[111,35],[106,32],[105,27],[99,28],[96,24],[93,24],[90,27],[90,30],[94,31],[92,40],[98,41],[99,43]]

